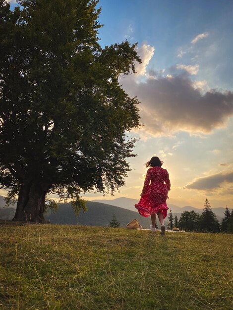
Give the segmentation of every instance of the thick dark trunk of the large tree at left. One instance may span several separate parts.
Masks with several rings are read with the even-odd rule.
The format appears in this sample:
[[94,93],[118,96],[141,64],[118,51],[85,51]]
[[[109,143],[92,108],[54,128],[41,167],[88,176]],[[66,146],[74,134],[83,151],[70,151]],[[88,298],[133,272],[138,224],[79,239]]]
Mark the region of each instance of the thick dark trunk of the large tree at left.
[[45,182],[24,181],[19,191],[13,221],[46,223],[45,197],[50,185]]

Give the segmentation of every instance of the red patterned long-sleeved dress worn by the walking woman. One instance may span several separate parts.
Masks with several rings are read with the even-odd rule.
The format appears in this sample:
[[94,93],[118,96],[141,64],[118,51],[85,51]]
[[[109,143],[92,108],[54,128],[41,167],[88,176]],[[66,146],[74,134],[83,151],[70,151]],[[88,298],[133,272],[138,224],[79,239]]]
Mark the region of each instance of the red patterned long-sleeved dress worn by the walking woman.
[[148,217],[152,213],[161,211],[165,218],[169,209],[166,200],[170,188],[171,183],[166,169],[161,167],[149,168],[142,190],[143,196],[139,203],[135,205],[139,214]]

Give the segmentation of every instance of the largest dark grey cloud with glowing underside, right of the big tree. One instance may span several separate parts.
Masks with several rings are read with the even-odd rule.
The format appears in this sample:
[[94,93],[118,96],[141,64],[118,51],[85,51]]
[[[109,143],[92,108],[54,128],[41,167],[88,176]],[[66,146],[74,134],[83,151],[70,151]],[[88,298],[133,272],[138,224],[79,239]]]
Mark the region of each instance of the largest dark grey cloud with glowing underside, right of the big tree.
[[187,75],[148,78],[141,83],[128,76],[120,82],[130,96],[138,97],[142,130],[153,136],[171,136],[177,131],[211,133],[233,115],[233,92],[203,94]]

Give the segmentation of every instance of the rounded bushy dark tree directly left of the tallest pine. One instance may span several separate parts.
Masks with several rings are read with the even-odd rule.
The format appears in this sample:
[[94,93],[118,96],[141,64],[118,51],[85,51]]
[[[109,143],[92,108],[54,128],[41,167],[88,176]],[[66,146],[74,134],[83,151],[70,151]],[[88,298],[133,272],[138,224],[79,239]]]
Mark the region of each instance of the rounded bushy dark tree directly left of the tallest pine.
[[200,215],[195,211],[183,211],[178,221],[178,227],[184,231],[199,230]]

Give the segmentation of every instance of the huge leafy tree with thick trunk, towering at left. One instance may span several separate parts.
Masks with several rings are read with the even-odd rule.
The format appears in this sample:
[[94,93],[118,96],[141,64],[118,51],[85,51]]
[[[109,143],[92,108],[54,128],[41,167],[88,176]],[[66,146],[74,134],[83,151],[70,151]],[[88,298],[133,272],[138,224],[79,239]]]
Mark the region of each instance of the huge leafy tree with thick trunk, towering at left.
[[48,193],[114,192],[130,170],[137,99],[118,83],[136,44],[99,44],[98,0],[0,0],[0,185],[14,220],[44,222]]

